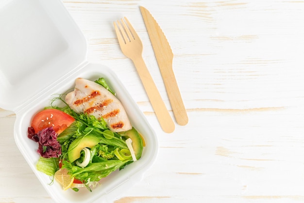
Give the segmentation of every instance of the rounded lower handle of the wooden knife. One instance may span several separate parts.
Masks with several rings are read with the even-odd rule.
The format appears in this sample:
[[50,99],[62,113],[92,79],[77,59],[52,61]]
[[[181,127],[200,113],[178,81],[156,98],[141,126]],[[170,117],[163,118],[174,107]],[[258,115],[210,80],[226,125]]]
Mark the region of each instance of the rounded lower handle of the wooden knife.
[[175,79],[173,69],[162,69],[161,74],[165,83],[175,120],[179,125],[185,126],[188,123],[188,116]]

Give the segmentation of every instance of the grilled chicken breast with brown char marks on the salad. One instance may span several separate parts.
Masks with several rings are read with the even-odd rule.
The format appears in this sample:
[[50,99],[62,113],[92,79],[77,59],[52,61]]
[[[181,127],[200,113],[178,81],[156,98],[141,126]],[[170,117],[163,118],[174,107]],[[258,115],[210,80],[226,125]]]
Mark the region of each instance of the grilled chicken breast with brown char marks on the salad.
[[87,113],[103,118],[113,132],[132,129],[131,122],[121,102],[103,86],[77,78],[75,89],[66,96],[69,107],[77,113]]

